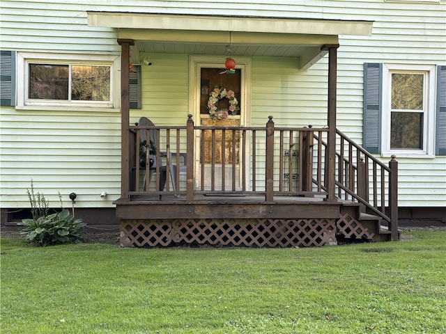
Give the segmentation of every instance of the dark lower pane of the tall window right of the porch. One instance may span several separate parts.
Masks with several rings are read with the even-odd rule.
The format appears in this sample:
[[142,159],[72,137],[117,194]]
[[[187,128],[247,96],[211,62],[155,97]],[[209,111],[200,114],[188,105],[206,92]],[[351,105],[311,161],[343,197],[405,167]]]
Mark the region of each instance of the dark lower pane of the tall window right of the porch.
[[423,148],[423,114],[392,112],[390,148]]

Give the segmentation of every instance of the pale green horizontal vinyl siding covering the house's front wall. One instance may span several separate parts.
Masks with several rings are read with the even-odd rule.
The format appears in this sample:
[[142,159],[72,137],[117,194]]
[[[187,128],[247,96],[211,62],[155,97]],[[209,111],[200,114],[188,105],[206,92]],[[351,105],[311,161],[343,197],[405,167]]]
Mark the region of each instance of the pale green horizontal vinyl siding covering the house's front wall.
[[[86,12],[123,11],[215,15],[261,15],[374,21],[367,38],[339,36],[337,127],[362,143],[363,64],[446,64],[446,1],[100,1],[1,2],[1,49],[52,54],[116,54],[116,31],[89,27]],[[143,67],[141,110],[157,125],[183,124],[188,110],[188,55],[151,54]],[[294,58],[252,59],[251,125],[274,116],[277,125],[326,123],[325,57],[309,71]],[[20,78],[17,78],[20,84]],[[155,84],[151,85],[150,82]],[[146,84],[148,83],[148,84]],[[1,207],[29,207],[26,189],[59,206],[60,192],[78,194],[77,207],[113,207],[120,189],[118,111],[42,111],[1,107]],[[388,158],[382,158],[387,161]],[[446,157],[397,158],[399,206],[442,207]],[[107,191],[106,200],[100,193]]]

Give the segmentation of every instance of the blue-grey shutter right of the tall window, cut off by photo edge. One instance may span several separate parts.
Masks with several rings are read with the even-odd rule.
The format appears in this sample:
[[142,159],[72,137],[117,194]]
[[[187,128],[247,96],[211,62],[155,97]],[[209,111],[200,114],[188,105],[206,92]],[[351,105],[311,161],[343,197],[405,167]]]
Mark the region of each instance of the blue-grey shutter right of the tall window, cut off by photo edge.
[[446,155],[446,65],[437,71],[436,154]]

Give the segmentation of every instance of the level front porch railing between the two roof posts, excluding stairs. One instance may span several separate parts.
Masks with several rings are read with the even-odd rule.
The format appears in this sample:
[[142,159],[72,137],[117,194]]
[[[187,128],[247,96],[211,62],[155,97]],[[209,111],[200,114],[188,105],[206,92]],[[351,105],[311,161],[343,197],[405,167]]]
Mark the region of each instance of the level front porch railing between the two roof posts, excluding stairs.
[[[186,126],[129,129],[129,199],[174,194],[192,201],[195,195],[247,192],[263,195],[267,202],[279,195],[327,196],[323,186],[327,129],[275,127],[272,116],[266,127],[194,126],[190,117]],[[148,154],[139,138],[141,132],[150,138],[152,131],[157,148]],[[151,167],[150,158],[161,164]]]

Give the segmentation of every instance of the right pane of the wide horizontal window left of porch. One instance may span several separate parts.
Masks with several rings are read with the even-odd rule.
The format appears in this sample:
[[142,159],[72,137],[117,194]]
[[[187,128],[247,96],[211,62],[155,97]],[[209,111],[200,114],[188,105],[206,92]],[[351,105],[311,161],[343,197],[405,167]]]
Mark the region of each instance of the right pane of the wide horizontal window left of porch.
[[72,66],[71,100],[109,101],[109,66]]

